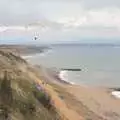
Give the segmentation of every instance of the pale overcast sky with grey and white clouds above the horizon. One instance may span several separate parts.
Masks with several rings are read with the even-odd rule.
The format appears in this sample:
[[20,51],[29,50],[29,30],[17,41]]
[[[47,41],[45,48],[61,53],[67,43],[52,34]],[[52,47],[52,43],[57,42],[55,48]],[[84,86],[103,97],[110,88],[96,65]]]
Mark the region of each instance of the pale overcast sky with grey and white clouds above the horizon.
[[120,0],[0,0],[0,43],[120,41]]

